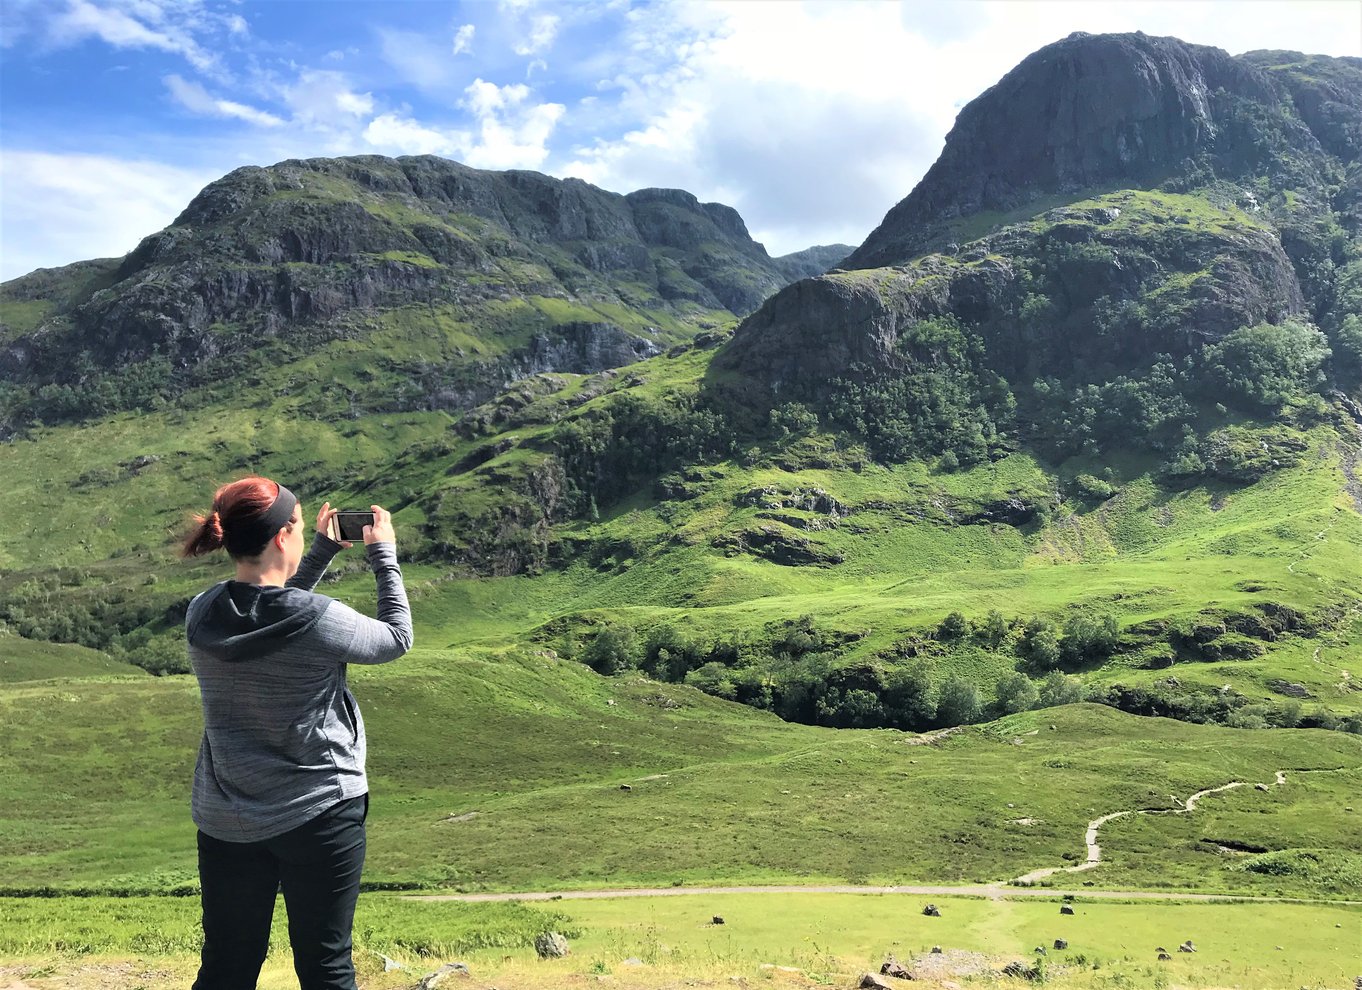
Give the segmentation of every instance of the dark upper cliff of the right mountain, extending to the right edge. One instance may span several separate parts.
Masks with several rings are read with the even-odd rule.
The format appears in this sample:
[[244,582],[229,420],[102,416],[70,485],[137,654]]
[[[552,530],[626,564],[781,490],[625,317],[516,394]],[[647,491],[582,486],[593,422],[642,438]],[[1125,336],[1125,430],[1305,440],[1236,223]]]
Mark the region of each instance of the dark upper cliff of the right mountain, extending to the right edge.
[[944,246],[951,221],[1046,193],[1148,188],[1189,170],[1297,173],[1301,187],[1325,157],[1357,158],[1359,63],[1072,34],[966,105],[941,157],[844,267],[906,261]]

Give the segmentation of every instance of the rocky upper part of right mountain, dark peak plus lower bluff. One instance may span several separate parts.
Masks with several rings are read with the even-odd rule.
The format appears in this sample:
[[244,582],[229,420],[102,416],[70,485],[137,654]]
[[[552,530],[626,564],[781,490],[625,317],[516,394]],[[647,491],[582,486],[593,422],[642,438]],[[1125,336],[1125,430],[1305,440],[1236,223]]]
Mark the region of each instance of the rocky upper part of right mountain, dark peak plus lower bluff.
[[1339,334],[1362,276],[1359,150],[1362,60],[1075,34],[960,112],[850,271],[767,300],[716,361],[763,403],[817,404],[903,373],[928,317],[1023,389],[1140,377],[1293,316]]

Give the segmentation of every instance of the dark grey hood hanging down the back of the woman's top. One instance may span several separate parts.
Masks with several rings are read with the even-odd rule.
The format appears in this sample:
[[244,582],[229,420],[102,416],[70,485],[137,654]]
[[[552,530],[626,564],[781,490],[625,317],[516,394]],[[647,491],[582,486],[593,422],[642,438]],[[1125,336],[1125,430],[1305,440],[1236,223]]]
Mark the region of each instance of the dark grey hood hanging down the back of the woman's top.
[[219,660],[262,656],[308,632],[330,603],[301,588],[223,581],[189,609],[189,645]]

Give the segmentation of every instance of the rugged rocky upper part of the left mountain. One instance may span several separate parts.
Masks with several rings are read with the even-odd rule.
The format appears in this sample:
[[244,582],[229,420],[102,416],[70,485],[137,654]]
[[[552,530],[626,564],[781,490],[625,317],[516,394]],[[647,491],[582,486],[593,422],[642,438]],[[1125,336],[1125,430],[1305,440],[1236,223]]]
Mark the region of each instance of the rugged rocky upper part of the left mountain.
[[23,392],[11,419],[52,419],[230,379],[267,342],[278,357],[350,339],[424,379],[406,404],[460,409],[527,374],[656,354],[809,266],[678,189],[620,196],[433,157],[289,161],[212,182],[124,259],[5,283],[0,376]]

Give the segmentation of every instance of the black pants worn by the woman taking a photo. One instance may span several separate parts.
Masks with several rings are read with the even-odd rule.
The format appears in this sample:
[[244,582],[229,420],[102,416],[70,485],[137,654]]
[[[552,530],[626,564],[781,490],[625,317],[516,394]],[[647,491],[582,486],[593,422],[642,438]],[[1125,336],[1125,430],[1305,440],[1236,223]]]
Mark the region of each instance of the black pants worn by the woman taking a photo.
[[355,990],[350,929],[368,813],[365,794],[264,842],[222,842],[199,832],[203,964],[193,990],[253,990],[281,888],[298,986]]

